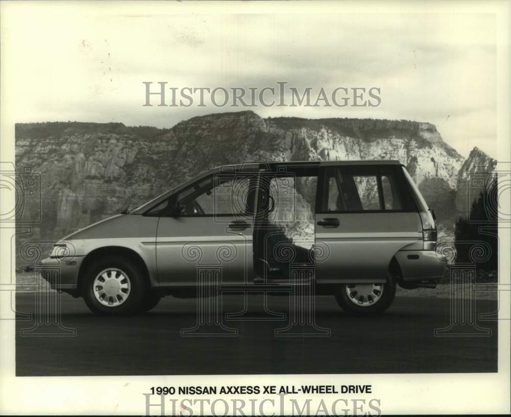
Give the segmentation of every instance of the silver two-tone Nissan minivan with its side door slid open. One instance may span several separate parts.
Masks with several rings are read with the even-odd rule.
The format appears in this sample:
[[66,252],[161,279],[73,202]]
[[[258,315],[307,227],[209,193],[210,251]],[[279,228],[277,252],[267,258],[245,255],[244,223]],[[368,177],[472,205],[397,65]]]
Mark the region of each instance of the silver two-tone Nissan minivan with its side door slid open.
[[436,235],[399,161],[251,162],[66,236],[41,275],[97,314],[148,311],[211,286],[303,285],[347,313],[376,314],[396,285],[434,288],[444,276]]

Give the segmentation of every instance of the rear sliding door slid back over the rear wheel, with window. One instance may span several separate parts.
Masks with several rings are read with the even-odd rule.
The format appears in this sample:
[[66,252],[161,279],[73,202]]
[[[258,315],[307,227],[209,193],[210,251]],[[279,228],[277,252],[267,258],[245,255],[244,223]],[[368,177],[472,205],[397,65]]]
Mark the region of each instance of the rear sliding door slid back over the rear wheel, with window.
[[318,283],[385,282],[394,254],[421,241],[420,216],[402,175],[400,165],[320,169]]

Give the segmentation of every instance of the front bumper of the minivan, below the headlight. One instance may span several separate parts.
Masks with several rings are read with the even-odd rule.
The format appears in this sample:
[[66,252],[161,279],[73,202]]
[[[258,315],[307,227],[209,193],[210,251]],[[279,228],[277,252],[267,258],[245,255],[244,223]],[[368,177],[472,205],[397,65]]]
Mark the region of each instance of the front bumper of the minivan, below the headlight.
[[78,272],[83,259],[83,256],[46,258],[39,262],[37,272],[53,289],[72,292],[77,289]]

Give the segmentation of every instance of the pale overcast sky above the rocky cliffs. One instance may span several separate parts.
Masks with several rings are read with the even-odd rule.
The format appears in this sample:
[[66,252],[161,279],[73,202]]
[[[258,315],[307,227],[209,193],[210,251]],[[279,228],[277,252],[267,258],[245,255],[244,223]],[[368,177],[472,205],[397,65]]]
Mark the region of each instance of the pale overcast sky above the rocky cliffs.
[[155,16],[122,7],[115,10],[124,15],[65,5],[17,9],[3,17],[2,47],[11,80],[3,88],[18,97],[10,110],[19,122],[172,127],[197,115],[243,110],[143,107],[144,81],[178,88],[261,88],[277,81],[328,91],[379,87],[379,107],[247,109],[263,117],[428,121],[460,154],[478,146],[497,157],[492,15]]

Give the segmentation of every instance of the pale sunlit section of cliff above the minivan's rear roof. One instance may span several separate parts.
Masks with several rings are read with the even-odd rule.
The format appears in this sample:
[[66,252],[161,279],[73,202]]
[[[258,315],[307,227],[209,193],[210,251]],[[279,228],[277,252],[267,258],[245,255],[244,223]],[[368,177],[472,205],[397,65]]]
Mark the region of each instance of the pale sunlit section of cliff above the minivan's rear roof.
[[450,187],[463,162],[444,143],[429,123],[406,120],[298,119],[266,120],[267,131],[286,140],[291,160],[305,155],[307,160],[397,159],[407,165],[417,184],[439,177]]

